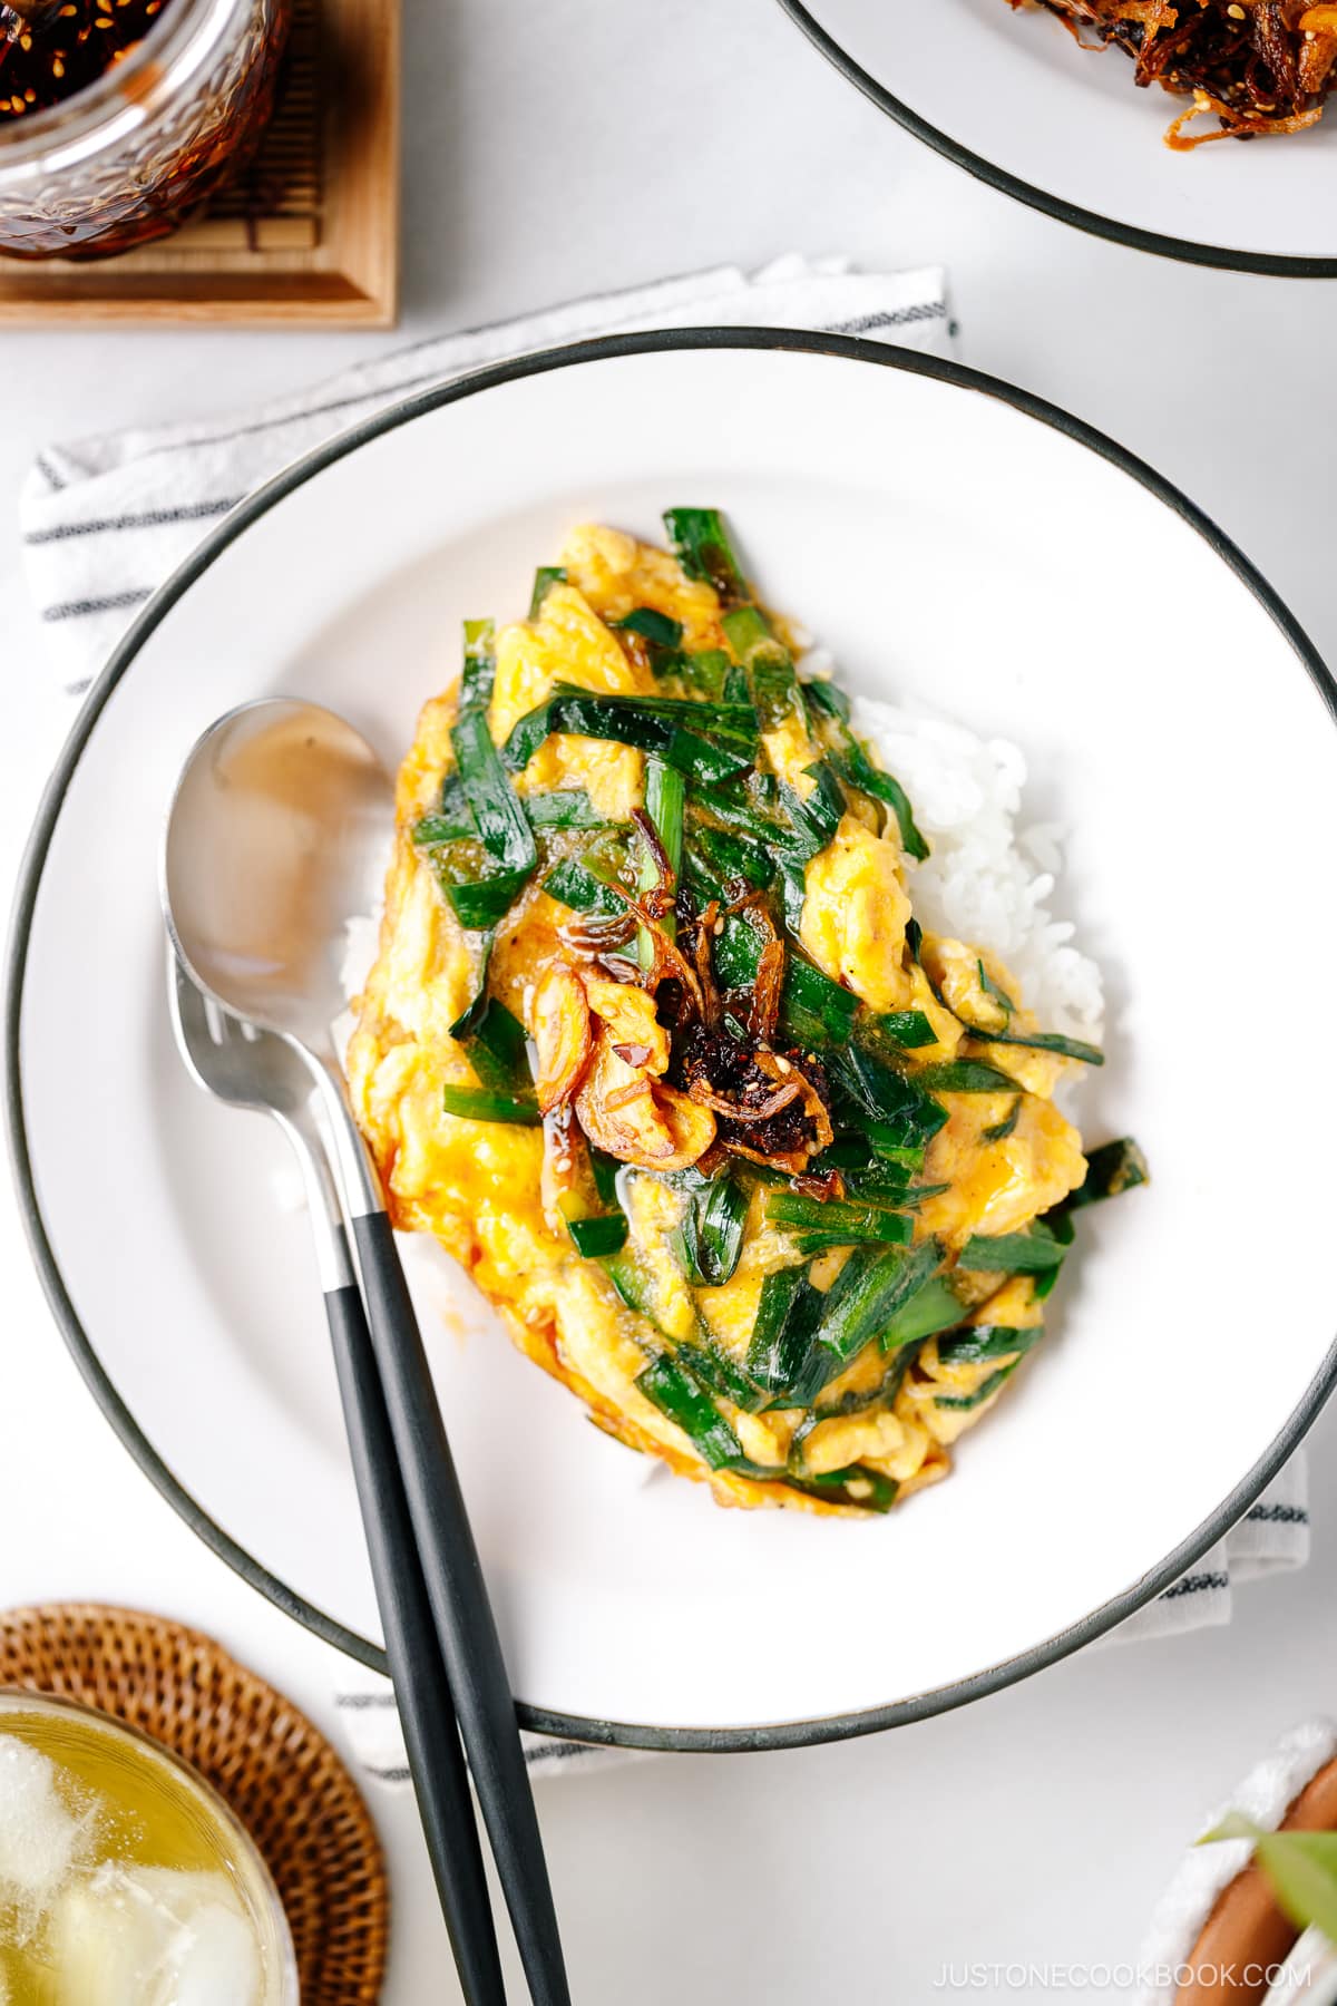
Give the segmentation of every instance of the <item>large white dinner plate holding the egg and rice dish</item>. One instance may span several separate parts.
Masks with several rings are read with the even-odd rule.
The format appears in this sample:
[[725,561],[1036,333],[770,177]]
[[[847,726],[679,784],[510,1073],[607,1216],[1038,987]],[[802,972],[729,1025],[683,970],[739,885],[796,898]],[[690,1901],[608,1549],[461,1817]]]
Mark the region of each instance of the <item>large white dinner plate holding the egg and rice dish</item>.
[[176,768],[265,692],[395,762],[463,616],[523,612],[599,518],[728,510],[854,688],[1030,760],[1104,965],[1088,1135],[1153,1186],[1080,1222],[1054,1328],[948,1482],[888,1519],[720,1511],[599,1434],[435,1248],[411,1272],[523,1717],[680,1747],[816,1741],[1016,1679],[1163,1589],[1335,1370],[1337,732],[1231,544],[1046,405],[874,343],[589,343],[369,421],[239,508],[100,676],[46,796],[10,967],[36,1258],[108,1418],[251,1581],[375,1661],[377,1617],[285,1145],[172,1049],[156,851]]

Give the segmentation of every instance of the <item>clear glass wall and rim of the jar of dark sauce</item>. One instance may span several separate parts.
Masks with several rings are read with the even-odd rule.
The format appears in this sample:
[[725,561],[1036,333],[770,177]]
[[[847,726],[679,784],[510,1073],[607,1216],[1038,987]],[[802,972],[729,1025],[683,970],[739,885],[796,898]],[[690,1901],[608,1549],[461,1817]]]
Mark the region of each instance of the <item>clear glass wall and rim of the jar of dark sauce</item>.
[[110,257],[184,223],[265,130],[291,0],[166,0],[92,84],[6,124],[0,255]]

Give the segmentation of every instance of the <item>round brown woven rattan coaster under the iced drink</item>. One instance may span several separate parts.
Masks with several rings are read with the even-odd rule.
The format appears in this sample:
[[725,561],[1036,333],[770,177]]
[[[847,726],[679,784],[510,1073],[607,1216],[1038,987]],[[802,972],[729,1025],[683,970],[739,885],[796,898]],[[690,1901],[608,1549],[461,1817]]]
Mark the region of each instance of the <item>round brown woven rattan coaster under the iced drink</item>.
[[98,1603],[0,1615],[0,1685],[82,1699],[194,1763],[269,1862],[303,2006],[375,2006],[389,1940],[381,1844],[353,1777],[283,1693],[200,1631]]

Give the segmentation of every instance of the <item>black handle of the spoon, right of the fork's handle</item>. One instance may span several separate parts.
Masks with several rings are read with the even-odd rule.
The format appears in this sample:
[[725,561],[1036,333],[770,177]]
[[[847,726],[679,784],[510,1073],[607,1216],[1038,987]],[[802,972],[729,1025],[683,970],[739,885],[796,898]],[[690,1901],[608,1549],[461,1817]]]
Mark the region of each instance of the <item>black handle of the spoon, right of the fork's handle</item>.
[[535,2006],[569,2006],[511,1681],[395,1236],[385,1212],[351,1224],[441,1657],[525,1978]]

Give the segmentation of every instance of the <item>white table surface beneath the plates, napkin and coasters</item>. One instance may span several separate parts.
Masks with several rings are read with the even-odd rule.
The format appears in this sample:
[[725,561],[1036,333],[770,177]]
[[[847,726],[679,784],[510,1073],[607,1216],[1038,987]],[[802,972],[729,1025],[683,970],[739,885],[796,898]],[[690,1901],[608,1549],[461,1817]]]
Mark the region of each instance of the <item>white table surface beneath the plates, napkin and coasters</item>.
[[[1337,660],[1337,285],[1195,271],[1032,215],[892,126],[774,0],[407,0],[407,48],[393,335],[0,341],[6,881],[68,722],[16,576],[14,499],[44,439],[229,407],[437,329],[788,249],[946,263],[962,355],[1157,463]],[[1185,173],[1205,164],[1193,156]],[[1155,554],[1100,552],[1092,532],[1092,570],[1104,562],[1133,590]],[[333,1655],[194,1541],[82,1390],[8,1192],[0,1274],[0,1605],[98,1597],[178,1615],[339,1739]],[[543,1783],[581,2006],[918,2002],[952,1990],[948,1962],[1048,1968],[986,1974],[984,1998],[1129,1998],[1127,1982],[1084,1968],[1135,1956],[1203,1811],[1287,1725],[1337,1703],[1335,1442],[1329,1414],[1311,1436],[1311,1567],[1239,1589],[1229,1629],[1090,1651],[844,1747],[659,1757]],[[1129,1482],[1155,1482],[1155,1460],[1131,1462]],[[395,1894],[387,2006],[451,2000],[413,1805],[373,1807]]]

